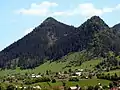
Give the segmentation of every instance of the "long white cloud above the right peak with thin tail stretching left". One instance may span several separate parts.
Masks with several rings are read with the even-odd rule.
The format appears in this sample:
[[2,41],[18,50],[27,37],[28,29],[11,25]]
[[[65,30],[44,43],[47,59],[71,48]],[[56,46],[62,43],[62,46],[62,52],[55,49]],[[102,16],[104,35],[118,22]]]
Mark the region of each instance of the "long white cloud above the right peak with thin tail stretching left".
[[115,7],[104,7],[104,8],[96,8],[92,3],[83,3],[79,4],[76,8],[67,11],[58,11],[54,12],[53,16],[75,16],[80,15],[83,17],[91,17],[94,15],[101,16],[105,13],[111,13],[115,10],[120,9],[120,4]]

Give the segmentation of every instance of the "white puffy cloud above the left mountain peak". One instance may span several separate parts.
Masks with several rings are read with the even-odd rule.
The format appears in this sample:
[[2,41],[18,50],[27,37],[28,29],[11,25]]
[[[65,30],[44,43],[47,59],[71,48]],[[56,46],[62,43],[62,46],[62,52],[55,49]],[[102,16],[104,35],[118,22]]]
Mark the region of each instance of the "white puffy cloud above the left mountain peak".
[[40,15],[45,16],[49,14],[50,8],[58,6],[57,3],[44,1],[40,4],[32,3],[30,8],[19,9],[16,12],[18,14],[25,14],[25,15]]

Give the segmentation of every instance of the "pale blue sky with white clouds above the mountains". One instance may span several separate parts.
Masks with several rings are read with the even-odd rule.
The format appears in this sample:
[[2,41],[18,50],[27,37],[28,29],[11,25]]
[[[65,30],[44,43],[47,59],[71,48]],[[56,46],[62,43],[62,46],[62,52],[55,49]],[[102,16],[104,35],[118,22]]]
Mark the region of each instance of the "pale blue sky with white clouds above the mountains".
[[0,51],[47,17],[78,27],[94,15],[110,27],[120,23],[120,0],[0,0]]

